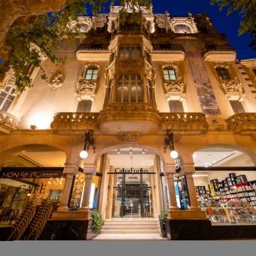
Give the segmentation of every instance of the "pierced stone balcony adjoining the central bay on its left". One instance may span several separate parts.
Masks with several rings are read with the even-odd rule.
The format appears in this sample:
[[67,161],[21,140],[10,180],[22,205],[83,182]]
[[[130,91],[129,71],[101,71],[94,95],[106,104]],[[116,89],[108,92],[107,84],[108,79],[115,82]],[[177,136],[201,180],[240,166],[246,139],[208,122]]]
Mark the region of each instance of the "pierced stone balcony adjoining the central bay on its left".
[[84,133],[96,130],[99,113],[56,113],[50,127],[56,133]]

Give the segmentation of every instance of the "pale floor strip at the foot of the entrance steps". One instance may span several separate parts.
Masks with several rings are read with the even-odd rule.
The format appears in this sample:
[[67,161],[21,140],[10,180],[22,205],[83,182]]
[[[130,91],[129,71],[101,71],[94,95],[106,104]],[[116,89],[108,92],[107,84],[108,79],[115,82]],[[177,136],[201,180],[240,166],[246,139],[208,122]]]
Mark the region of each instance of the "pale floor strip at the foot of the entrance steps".
[[102,233],[93,240],[166,240],[157,233]]

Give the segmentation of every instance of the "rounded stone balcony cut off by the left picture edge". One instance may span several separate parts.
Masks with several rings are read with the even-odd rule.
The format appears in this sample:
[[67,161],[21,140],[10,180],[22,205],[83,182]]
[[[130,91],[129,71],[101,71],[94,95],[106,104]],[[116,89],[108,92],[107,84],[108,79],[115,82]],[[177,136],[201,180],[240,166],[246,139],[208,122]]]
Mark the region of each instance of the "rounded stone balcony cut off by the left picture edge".
[[19,120],[17,117],[0,110],[0,133],[11,133],[11,131],[17,130],[18,125]]

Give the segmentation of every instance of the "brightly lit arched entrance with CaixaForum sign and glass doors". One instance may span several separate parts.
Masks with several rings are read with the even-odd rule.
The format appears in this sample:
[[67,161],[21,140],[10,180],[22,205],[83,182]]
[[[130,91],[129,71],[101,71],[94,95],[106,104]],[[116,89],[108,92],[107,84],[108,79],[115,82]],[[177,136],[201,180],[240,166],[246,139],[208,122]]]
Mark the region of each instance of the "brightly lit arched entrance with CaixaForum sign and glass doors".
[[103,152],[99,164],[103,217],[157,218],[166,206],[161,157],[142,145],[117,145]]

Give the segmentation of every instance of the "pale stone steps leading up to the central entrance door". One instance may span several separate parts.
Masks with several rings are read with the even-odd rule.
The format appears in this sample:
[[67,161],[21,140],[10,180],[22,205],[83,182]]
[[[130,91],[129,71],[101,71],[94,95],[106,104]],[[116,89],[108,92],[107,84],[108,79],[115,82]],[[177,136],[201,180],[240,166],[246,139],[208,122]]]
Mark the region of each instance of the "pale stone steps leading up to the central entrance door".
[[112,218],[105,220],[100,233],[159,233],[157,219],[154,218]]

